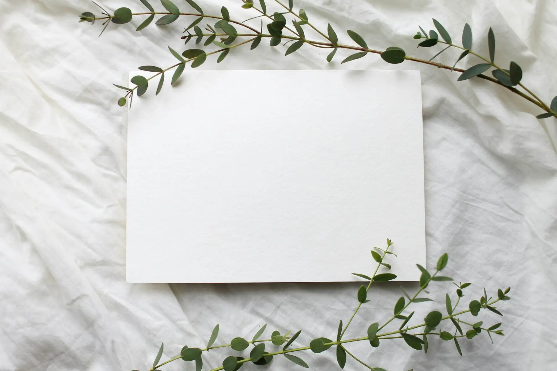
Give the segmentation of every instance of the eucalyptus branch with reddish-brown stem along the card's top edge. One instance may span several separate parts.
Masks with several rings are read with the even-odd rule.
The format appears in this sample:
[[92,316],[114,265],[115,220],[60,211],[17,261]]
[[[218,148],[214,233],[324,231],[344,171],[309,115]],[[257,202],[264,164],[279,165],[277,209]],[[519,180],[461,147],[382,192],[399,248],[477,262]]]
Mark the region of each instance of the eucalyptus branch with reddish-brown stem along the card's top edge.
[[[512,93],[515,93],[516,95],[524,98],[525,100],[533,103],[534,105],[536,105],[536,106],[540,107],[542,110],[544,110],[545,112],[538,115],[537,116],[538,118],[547,118],[547,117],[551,117],[551,116],[557,117],[557,96],[554,97],[553,100],[551,101],[551,104],[548,105],[538,95],[536,95],[534,92],[532,92],[532,90],[530,88],[526,87],[524,85],[524,83],[521,82],[521,80],[522,80],[522,70],[521,70],[520,66],[517,65],[517,63],[511,62],[509,70],[506,70],[505,68],[502,68],[499,65],[496,65],[496,63],[494,62],[494,58],[495,58],[495,35],[494,35],[494,32],[492,31],[492,29],[490,29],[490,31],[488,32],[488,47],[489,47],[489,51],[490,51],[490,56],[489,56],[489,58],[486,58],[486,57],[481,56],[477,52],[472,51],[472,31],[471,31],[470,26],[468,26],[468,24],[465,25],[465,28],[464,28],[464,31],[463,31],[463,34],[462,34],[462,46],[458,46],[457,44],[452,42],[451,36],[446,31],[446,29],[441,25],[441,23],[439,23],[436,19],[433,19],[434,26],[436,27],[438,33],[432,29],[432,30],[429,31],[429,34],[428,34],[428,33],[426,33],[426,31],[424,31],[423,28],[419,27],[421,32],[418,32],[414,36],[414,38],[415,39],[424,39],[424,41],[421,41],[418,44],[418,47],[434,47],[437,44],[445,44],[447,46],[444,47],[441,51],[437,52],[429,61],[427,61],[427,60],[423,60],[421,58],[407,56],[406,53],[404,52],[404,50],[402,50],[402,48],[399,48],[399,47],[390,47],[390,48],[387,48],[387,50],[384,50],[384,51],[369,48],[367,46],[367,43],[364,41],[363,37],[361,37],[358,33],[354,32],[354,31],[351,31],[351,30],[348,30],[348,35],[357,44],[357,46],[348,45],[348,44],[340,44],[340,43],[338,43],[338,36],[336,35],[333,27],[330,24],[328,25],[328,29],[327,29],[326,34],[322,31],[320,31],[317,27],[315,27],[312,23],[309,22],[307,14],[304,11],[304,9],[299,9],[298,13],[296,13],[294,11],[294,8],[293,8],[294,4],[293,4],[292,0],[289,0],[288,5],[282,3],[280,0],[275,0],[275,3],[278,4],[278,6],[280,6],[282,9],[284,9],[285,12],[273,12],[273,13],[270,13],[270,12],[267,11],[267,6],[266,6],[266,3],[265,3],[265,0],[260,0],[261,9],[254,6],[253,0],[242,0],[242,7],[243,8],[254,9],[258,13],[260,13],[259,16],[248,18],[244,22],[235,21],[233,19],[230,19],[229,14],[228,14],[228,9],[226,9],[226,7],[222,7],[222,16],[206,14],[202,11],[202,9],[195,2],[193,2],[193,0],[186,0],[186,1],[198,13],[180,12],[178,7],[175,6],[175,4],[173,2],[171,2],[170,0],[161,0],[162,5],[166,8],[167,12],[157,12],[149,4],[149,2],[147,0],[140,0],[140,1],[141,1],[141,3],[144,4],[144,6],[146,8],[149,9],[150,12],[132,13],[129,8],[119,8],[114,12],[114,14],[110,14],[108,11],[106,11],[106,9],[101,7],[102,15],[103,15],[102,17],[96,17],[91,12],[85,12],[85,13],[81,14],[80,22],[86,21],[86,22],[94,23],[96,20],[106,20],[107,22],[110,21],[112,23],[121,24],[121,23],[130,22],[132,17],[134,17],[134,16],[149,16],[137,28],[137,31],[140,31],[141,29],[145,28],[146,26],[148,26],[153,21],[155,15],[161,15],[162,16],[162,18],[159,18],[158,21],[156,22],[159,26],[163,26],[165,24],[173,23],[180,16],[192,16],[192,17],[197,17],[197,18],[194,19],[194,21],[192,23],[190,23],[187,28],[185,28],[185,31],[188,32],[187,41],[189,41],[192,37],[194,37],[194,34],[189,33],[189,29],[193,28],[194,31],[196,31],[196,35],[197,35],[196,43],[201,42],[203,37],[207,37],[208,40],[210,40],[209,42],[206,41],[204,46],[208,46],[208,44],[213,43],[213,41],[216,37],[221,37],[221,36],[224,36],[225,34],[227,36],[222,39],[222,41],[225,44],[232,44],[237,37],[242,37],[242,36],[252,37],[252,36],[255,35],[254,37],[256,37],[256,38],[254,40],[252,40],[253,43],[252,43],[251,49],[254,49],[255,47],[257,47],[262,38],[270,38],[271,39],[271,42],[270,42],[271,46],[277,46],[278,44],[280,44],[282,38],[290,39],[290,41],[295,41],[294,43],[292,43],[289,46],[288,50],[286,51],[286,55],[289,55],[290,53],[295,52],[300,47],[302,47],[304,44],[309,44],[310,46],[313,46],[313,47],[333,49],[333,51],[327,57],[328,62],[333,60],[333,57],[335,56],[336,51],[340,48],[340,49],[344,49],[344,50],[357,51],[355,54],[346,57],[341,63],[346,63],[346,62],[349,62],[349,61],[359,59],[361,57],[366,56],[368,53],[378,54],[382,57],[382,59],[385,62],[393,63],[393,64],[402,63],[403,61],[413,61],[413,62],[423,63],[423,64],[426,64],[426,65],[436,66],[437,68],[443,68],[443,69],[446,69],[446,70],[450,70],[451,72],[461,73],[460,77],[458,78],[458,80],[460,80],[460,81],[468,80],[469,78],[472,78],[472,77],[478,77],[478,78],[482,78],[483,80],[493,82],[497,85],[505,87],[507,90],[511,91]],[[98,4],[97,4],[97,6],[98,6]],[[294,25],[295,30],[286,26],[285,14],[295,17],[295,20],[292,20],[292,24]],[[260,18],[260,17],[270,19],[270,21],[271,21],[271,23],[267,24],[267,29],[269,31],[268,34],[263,34],[262,29],[260,31],[257,31],[256,28],[253,28],[252,26],[250,26],[246,23],[250,19]],[[215,28],[221,28],[221,26],[224,26],[224,28],[222,29],[223,32],[222,33],[213,32],[213,34],[205,34],[205,33],[201,32],[201,28],[199,28],[199,26],[197,26],[197,24],[199,22],[201,22],[202,19],[204,19],[204,18],[218,19],[218,22],[215,24]],[[250,29],[250,31],[254,32],[254,34],[240,34],[240,33],[237,33],[236,29],[233,27],[233,24],[236,24],[237,26],[241,26],[241,27],[245,27],[247,29]],[[106,23],[106,25],[108,26],[108,23]],[[324,42],[324,41],[315,41],[315,40],[306,39],[305,34],[304,34],[304,29],[302,28],[302,26],[305,26],[305,25],[310,27],[311,29],[313,29],[320,36],[324,37],[326,39],[326,41]],[[262,26],[262,24],[261,24],[261,26]],[[211,26],[209,26],[209,27],[211,27]],[[292,34],[294,34],[294,36],[284,35],[282,33],[283,30],[291,32]],[[213,31],[214,31],[214,29],[213,29]],[[442,39],[439,38],[439,34],[441,34]],[[257,36],[260,36],[260,37],[257,37]],[[240,44],[245,44],[245,43],[246,42],[242,42]],[[236,44],[235,46],[238,46],[240,44]],[[459,49],[459,50],[463,51],[461,53],[460,57],[458,57],[457,61],[455,62],[455,65],[447,66],[447,65],[444,65],[443,63],[437,63],[437,62],[432,61],[433,58],[436,58],[438,55],[445,52],[446,50],[448,50],[451,47],[454,47],[456,49]],[[221,62],[222,59],[228,54],[228,51],[223,50],[223,48],[219,49],[216,52],[211,52],[211,53],[203,52],[203,53],[206,54],[205,55],[205,57],[206,57],[207,55],[214,54],[214,53],[219,53],[219,52],[222,53],[221,54],[222,58],[220,60],[217,60],[217,62]],[[472,67],[468,68],[467,70],[463,70],[461,68],[456,68],[455,67],[456,64],[469,54],[479,58],[481,61],[483,61],[485,63],[480,63],[478,65],[472,66]],[[200,58],[195,58],[195,60],[198,60],[198,61],[203,60],[204,61],[204,57],[202,56]],[[188,61],[189,61],[189,59],[188,59]],[[182,61],[180,61],[180,62],[182,62]],[[201,65],[201,63],[203,63],[203,62],[199,62],[199,65]],[[159,70],[162,70],[162,68],[157,67],[158,70],[154,71],[154,72],[157,72],[157,75],[154,75],[154,76],[163,75],[163,73],[165,71],[168,71],[172,68],[177,68],[177,67],[180,68],[180,66],[181,66],[181,63],[177,63],[177,64],[175,64],[175,65],[173,65],[169,68],[166,68],[165,70],[163,70],[163,72],[159,71]],[[197,64],[192,62],[192,67],[197,67]],[[487,70],[489,70],[489,68],[495,68],[495,70],[492,70],[492,75],[494,77],[483,75],[483,72],[486,72]],[[144,82],[141,79],[140,79],[140,81]],[[144,86],[140,86],[140,87],[141,87],[142,91],[146,90],[146,88]],[[162,88],[162,85],[159,86],[158,91],[160,91],[160,88]],[[519,90],[519,88],[521,90]],[[135,90],[135,88],[134,88],[134,90]],[[124,96],[124,99],[120,98],[120,100],[119,100],[120,105],[125,105],[125,103],[126,103],[125,98],[128,97],[128,95],[131,95],[131,93],[129,91]],[[140,95],[140,94],[138,93],[138,95]],[[542,125],[542,126],[544,127],[544,130],[546,130],[545,126],[544,125]],[[547,132],[547,130],[546,130],[546,132]],[[554,150],[557,151],[557,148],[555,147],[551,137],[549,137],[549,139],[551,141],[551,145],[553,146]]]

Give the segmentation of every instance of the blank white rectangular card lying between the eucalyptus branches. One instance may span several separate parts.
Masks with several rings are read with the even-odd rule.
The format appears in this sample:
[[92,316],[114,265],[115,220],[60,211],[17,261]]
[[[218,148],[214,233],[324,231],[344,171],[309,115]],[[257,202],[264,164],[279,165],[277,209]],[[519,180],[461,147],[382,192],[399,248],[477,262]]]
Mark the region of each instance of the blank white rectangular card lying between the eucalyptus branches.
[[129,112],[128,282],[363,280],[387,238],[390,272],[419,279],[419,71],[181,79],[155,97],[154,78]]

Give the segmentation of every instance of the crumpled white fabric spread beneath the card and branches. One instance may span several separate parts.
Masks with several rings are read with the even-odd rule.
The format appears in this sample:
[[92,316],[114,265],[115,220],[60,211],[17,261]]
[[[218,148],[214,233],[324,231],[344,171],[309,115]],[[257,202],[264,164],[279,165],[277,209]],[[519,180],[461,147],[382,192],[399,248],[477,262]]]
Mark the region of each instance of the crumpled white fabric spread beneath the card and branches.
[[[226,4],[233,18],[252,14],[231,0],[199,3],[207,13]],[[331,22],[341,40],[348,41],[341,30],[350,28],[369,45],[397,45],[425,58],[432,51],[416,50],[411,37],[418,24],[432,28],[432,17],[453,39],[470,23],[483,53],[492,26],[496,61],[518,62],[524,82],[547,102],[557,94],[553,1],[296,3],[321,29]],[[143,9],[131,0],[102,4]],[[97,38],[100,24],[77,23],[87,10],[99,14],[86,0],[0,0],[0,369],[147,370],[160,342],[163,359],[173,357],[185,344],[205,344],[216,323],[219,342],[251,337],[263,323],[268,332],[303,329],[304,344],[333,338],[338,320],[354,308],[353,284],[125,283],[126,111],[116,106],[111,83],[125,85],[140,65],[173,63],[167,44],[182,50],[188,21],[137,33],[136,19],[111,24]],[[211,58],[201,68],[393,68],[376,55],[340,66],[340,51],[328,65],[328,51],[305,46],[284,57],[284,50],[267,43],[252,52],[238,48],[218,66]],[[448,51],[439,60],[452,63],[457,55]],[[492,294],[511,286],[512,300],[499,306],[506,336],[493,345],[485,334],[461,341],[463,357],[441,340],[430,342],[428,354],[400,340],[350,349],[388,370],[554,368],[557,156],[531,115],[540,110],[488,82],[456,82],[456,73],[412,62],[395,68],[422,70],[428,266],[447,252],[447,275],[473,283],[466,299],[478,298],[485,285]],[[268,88],[262,82],[258,93]],[[171,93],[167,85],[158,99]],[[208,98],[216,105],[222,99]],[[555,140],[555,120],[545,123]],[[190,264],[196,262],[184,269]],[[445,289],[454,293],[451,285],[432,285],[436,301],[416,304],[415,317],[443,309]],[[399,295],[398,284],[375,286],[347,335],[361,336],[372,321],[387,319]],[[486,311],[478,319],[500,320]],[[206,364],[217,367],[225,355],[215,350]],[[313,369],[337,369],[334,352],[302,357]],[[276,358],[271,369],[296,367]],[[180,360],[164,369],[193,365]],[[349,359],[346,369],[362,368]]]

